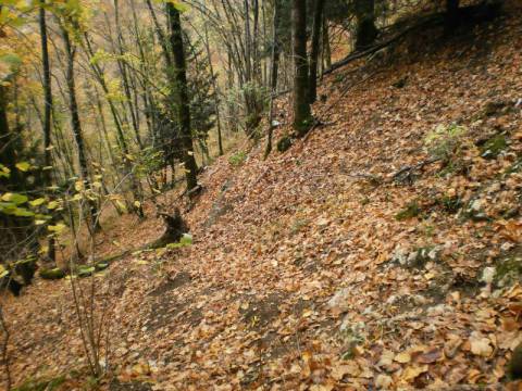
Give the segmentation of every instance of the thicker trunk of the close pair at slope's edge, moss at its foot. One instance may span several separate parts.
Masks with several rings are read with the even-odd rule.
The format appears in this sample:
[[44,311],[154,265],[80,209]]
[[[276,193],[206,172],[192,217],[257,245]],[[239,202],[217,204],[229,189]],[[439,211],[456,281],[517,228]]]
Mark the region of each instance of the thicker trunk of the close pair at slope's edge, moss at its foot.
[[302,137],[309,130],[312,118],[308,99],[307,59],[307,1],[293,0],[291,38],[294,46],[294,130]]

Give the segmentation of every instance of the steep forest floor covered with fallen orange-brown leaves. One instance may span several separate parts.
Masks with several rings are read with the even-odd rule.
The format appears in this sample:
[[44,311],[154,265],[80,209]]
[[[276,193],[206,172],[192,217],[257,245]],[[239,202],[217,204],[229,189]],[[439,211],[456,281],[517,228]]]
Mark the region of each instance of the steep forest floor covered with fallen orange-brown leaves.
[[[185,215],[192,245],[96,278],[116,377],[103,387],[504,389],[522,341],[519,3],[451,39],[417,34],[386,65],[335,72],[306,139],[208,167]],[[460,148],[431,163],[427,135],[452,123],[467,129],[450,139]],[[103,252],[161,235],[160,220],[132,219],[113,223]],[[85,368],[69,281],[3,300],[17,384]]]

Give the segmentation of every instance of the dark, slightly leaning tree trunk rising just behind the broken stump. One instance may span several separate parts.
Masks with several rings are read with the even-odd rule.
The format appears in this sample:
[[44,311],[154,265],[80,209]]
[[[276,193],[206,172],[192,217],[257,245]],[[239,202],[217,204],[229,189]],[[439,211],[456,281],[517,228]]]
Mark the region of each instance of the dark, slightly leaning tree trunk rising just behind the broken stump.
[[172,71],[174,74],[173,87],[175,93],[175,104],[181,128],[185,178],[187,180],[187,190],[190,192],[190,190],[198,186],[198,166],[196,165],[196,159],[194,157],[192,135],[190,129],[190,106],[187,91],[187,71],[182,21],[179,17],[179,11],[177,11],[177,9],[171,2],[166,3],[166,11],[171,24],[170,40],[174,60],[174,68]]

